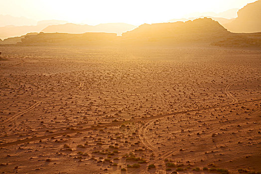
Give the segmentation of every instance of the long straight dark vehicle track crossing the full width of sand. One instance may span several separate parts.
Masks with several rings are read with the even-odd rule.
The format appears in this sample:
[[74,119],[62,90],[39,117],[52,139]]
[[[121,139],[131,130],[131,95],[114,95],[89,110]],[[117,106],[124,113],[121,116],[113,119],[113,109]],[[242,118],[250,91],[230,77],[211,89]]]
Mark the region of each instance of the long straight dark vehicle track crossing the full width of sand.
[[[256,100],[238,102],[238,103],[234,103],[234,104],[244,104],[244,103],[250,103],[250,102],[256,102],[256,101],[261,101],[261,98],[256,99]],[[172,112],[172,113],[168,113],[168,114],[160,114],[160,115],[157,115],[157,116],[154,116],[154,117],[138,118],[138,119],[133,119],[133,120],[128,120],[128,121],[112,122],[112,123],[108,123],[108,124],[104,124],[104,125],[97,125],[96,124],[96,125],[90,125],[89,128],[80,128],[80,126],[79,127],[74,126],[74,127],[71,127],[70,130],[66,130],[66,131],[59,132],[59,133],[51,133],[50,135],[44,135],[44,136],[40,136],[40,137],[33,137],[33,138],[28,138],[28,139],[23,139],[23,140],[17,140],[17,141],[9,142],[9,143],[2,143],[2,144],[0,144],[0,148],[13,146],[13,145],[19,145],[19,144],[23,144],[23,143],[28,143],[28,142],[32,142],[32,141],[36,141],[36,140],[42,140],[42,139],[47,139],[47,138],[61,136],[61,135],[73,134],[73,133],[77,133],[77,132],[85,132],[85,131],[90,131],[90,130],[94,130],[94,129],[114,127],[114,126],[119,126],[119,125],[122,125],[122,124],[136,123],[136,122],[145,121],[145,120],[153,120],[153,119],[163,118],[163,117],[166,117],[166,116],[188,113],[188,112],[194,112],[194,111],[223,108],[223,107],[228,107],[228,106],[231,106],[231,105],[233,105],[233,104],[226,104],[226,105],[213,106],[213,107],[208,107],[208,108],[199,108],[199,109],[191,109],[191,110],[186,110],[186,111]],[[219,128],[217,128],[217,130],[218,129]],[[213,130],[213,131],[215,131],[215,130]],[[211,131],[211,132],[213,132],[213,131]],[[33,133],[34,132],[32,132],[31,134],[33,134]],[[171,154],[171,152],[167,152],[167,153]],[[163,155],[164,154],[162,154],[162,156]]]

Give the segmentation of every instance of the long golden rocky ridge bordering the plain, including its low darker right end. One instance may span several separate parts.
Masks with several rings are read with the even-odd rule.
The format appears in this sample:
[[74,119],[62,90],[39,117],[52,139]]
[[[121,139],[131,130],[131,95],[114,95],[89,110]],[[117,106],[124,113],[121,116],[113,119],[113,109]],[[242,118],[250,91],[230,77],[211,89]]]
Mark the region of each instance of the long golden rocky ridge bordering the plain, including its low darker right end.
[[174,23],[143,24],[117,36],[116,33],[39,33],[20,38],[20,45],[174,46],[214,45],[261,47],[261,33],[231,33],[211,18]]

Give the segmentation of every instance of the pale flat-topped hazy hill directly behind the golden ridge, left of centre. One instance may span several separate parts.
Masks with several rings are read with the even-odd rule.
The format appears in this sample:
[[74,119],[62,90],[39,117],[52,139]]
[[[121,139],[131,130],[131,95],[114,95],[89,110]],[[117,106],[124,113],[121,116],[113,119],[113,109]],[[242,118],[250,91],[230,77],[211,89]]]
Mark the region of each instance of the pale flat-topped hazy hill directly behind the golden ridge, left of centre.
[[66,23],[61,25],[50,25],[42,30],[44,33],[86,33],[86,32],[106,32],[117,33],[121,35],[123,32],[134,29],[136,26],[127,23],[104,23],[99,25],[79,25],[74,23]]

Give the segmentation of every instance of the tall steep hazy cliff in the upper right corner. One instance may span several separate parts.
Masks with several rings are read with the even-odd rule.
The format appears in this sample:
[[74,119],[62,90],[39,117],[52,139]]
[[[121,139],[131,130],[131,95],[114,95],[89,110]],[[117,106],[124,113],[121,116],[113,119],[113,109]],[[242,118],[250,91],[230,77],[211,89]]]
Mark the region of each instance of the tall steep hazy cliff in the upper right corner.
[[260,32],[261,31],[261,0],[247,4],[238,11],[238,17],[224,27],[231,32]]

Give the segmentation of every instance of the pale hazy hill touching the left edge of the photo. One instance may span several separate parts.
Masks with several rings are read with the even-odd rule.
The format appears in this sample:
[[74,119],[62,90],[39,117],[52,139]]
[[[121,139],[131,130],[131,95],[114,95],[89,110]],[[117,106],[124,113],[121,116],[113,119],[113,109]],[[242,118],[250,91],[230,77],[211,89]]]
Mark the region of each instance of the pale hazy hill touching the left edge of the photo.
[[8,25],[4,27],[0,27],[0,38],[6,39],[9,37],[22,36],[27,33],[37,32],[39,33],[46,26],[53,23],[65,23],[66,21],[60,20],[43,20],[39,21],[37,25],[24,25],[24,26],[13,26]]

